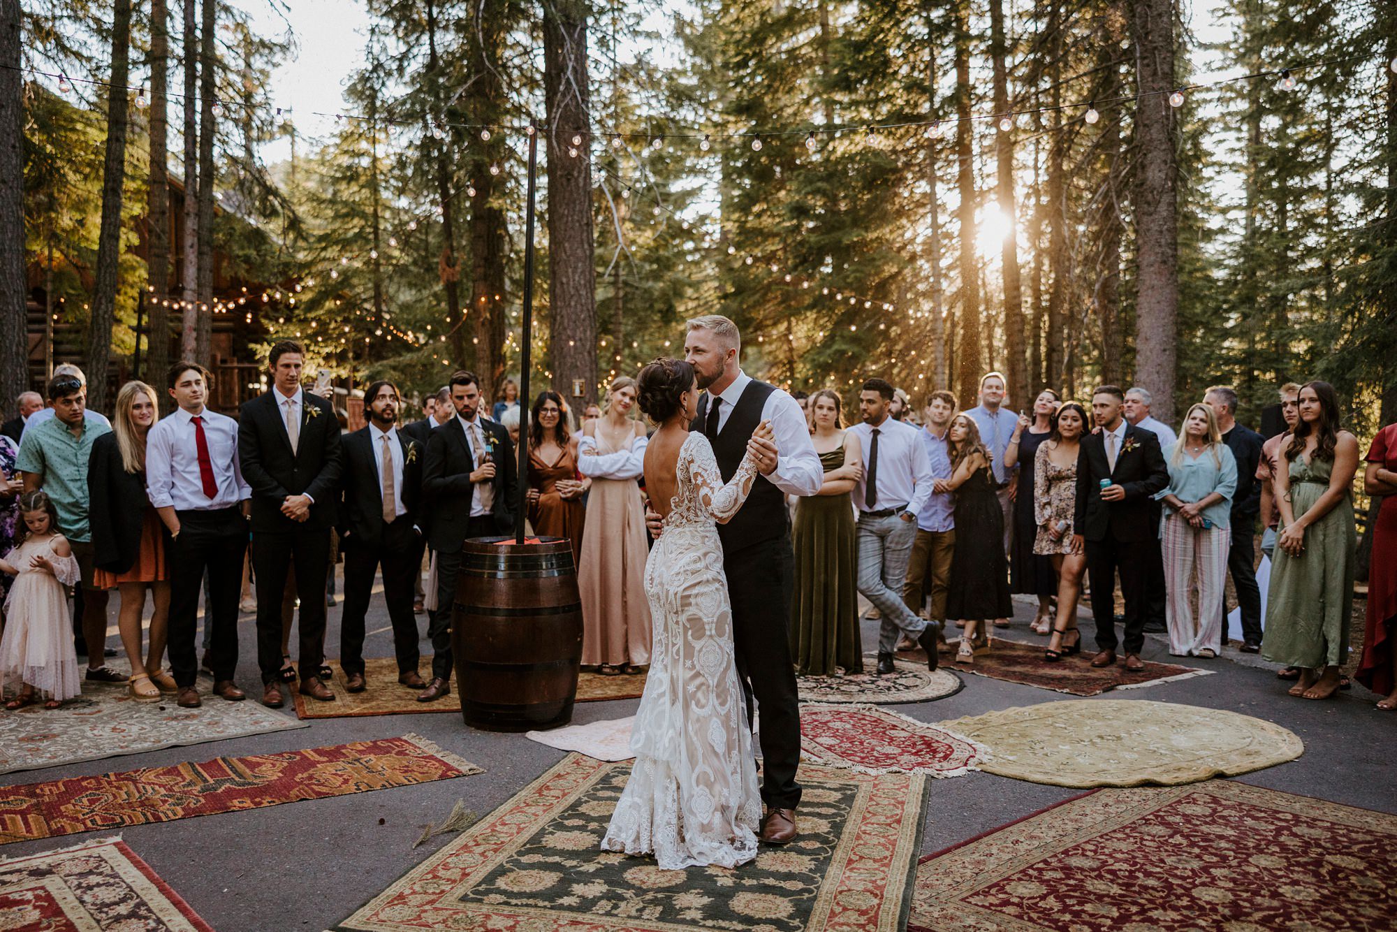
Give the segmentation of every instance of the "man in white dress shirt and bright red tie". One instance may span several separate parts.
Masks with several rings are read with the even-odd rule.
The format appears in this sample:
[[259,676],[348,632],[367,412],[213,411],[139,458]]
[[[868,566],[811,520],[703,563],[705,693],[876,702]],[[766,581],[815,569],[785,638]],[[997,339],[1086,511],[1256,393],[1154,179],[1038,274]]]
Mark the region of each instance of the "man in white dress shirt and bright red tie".
[[237,669],[237,591],[247,551],[251,488],[237,458],[237,422],[204,407],[208,370],[194,362],[169,369],[169,393],[179,405],[145,437],[145,492],[170,532],[169,657],[179,687],[176,701],[200,706],[194,680],[198,660],[194,627],[198,592],[208,573],[208,665],[214,694],[229,701],[244,693],[233,682]]

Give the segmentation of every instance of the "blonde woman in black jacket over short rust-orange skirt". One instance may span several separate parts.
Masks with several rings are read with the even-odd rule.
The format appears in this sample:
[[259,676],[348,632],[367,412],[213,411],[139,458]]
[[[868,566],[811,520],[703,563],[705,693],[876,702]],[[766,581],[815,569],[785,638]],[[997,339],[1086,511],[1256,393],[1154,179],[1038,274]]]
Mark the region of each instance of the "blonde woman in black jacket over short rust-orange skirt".
[[[144,381],[127,381],[116,394],[112,433],[94,442],[88,461],[94,581],[122,594],[117,627],[131,662],[129,686],[133,697],[145,701],[159,699],[162,690],[175,692],[175,678],[161,669],[170,606],[165,525],[145,493],[145,437],[158,419],[155,390]],[[147,590],[155,611],[149,648],[142,658]]]

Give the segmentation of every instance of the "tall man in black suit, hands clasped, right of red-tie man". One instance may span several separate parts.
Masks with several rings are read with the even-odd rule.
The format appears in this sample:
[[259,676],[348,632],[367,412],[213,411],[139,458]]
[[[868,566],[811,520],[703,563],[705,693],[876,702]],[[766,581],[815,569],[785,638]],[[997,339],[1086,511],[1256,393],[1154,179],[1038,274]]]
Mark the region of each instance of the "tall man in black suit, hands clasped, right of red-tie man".
[[300,694],[331,701],[320,682],[326,648],[330,530],[339,499],[339,422],[334,408],[300,387],[306,351],[293,340],[267,354],[274,386],[247,401],[237,421],[237,456],[253,490],[253,571],[257,577],[257,665],[263,704],[281,708],[281,601],[295,565],[300,599]]

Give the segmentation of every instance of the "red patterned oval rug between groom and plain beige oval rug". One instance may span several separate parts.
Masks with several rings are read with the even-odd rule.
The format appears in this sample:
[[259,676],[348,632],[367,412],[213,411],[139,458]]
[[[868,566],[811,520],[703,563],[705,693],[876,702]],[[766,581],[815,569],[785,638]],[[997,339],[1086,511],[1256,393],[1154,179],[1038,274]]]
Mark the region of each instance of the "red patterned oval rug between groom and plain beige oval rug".
[[800,739],[807,757],[868,774],[961,777],[986,756],[968,738],[876,706],[802,706]]

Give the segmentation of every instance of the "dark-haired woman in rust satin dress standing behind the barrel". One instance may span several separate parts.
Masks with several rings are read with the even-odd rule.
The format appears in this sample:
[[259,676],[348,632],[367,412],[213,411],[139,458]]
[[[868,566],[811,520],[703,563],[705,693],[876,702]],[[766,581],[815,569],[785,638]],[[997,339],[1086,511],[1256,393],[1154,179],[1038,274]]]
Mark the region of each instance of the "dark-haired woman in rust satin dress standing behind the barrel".
[[573,565],[583,553],[583,493],[591,479],[577,472],[577,437],[563,421],[563,398],[541,391],[534,400],[528,437],[528,520],[539,537],[566,538]]

